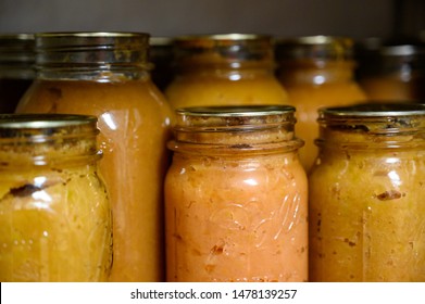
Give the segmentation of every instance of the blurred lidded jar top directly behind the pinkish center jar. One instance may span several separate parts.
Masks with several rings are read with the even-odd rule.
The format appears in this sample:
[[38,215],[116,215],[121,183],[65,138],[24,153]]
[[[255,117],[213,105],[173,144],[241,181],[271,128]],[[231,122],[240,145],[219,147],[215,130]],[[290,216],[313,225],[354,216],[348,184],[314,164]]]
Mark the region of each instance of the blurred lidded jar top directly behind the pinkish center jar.
[[165,94],[174,109],[288,103],[274,75],[271,37],[195,35],[176,37],[173,43],[175,75]]

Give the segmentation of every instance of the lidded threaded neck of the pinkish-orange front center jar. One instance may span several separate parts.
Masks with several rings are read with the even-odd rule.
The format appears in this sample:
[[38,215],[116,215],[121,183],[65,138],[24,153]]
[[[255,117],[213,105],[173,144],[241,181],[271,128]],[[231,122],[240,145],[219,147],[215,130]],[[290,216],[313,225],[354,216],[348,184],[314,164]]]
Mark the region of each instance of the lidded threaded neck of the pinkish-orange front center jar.
[[295,137],[295,107],[289,105],[179,109],[168,148],[207,153],[291,151],[303,144]]

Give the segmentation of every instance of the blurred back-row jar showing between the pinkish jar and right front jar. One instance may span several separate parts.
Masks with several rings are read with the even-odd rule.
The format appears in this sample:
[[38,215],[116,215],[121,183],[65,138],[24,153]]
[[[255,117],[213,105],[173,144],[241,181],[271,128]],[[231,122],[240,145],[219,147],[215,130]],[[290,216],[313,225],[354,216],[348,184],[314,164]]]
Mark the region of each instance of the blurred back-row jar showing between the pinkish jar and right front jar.
[[317,156],[317,110],[366,100],[354,79],[352,40],[347,37],[307,36],[276,39],[277,77],[297,107],[297,135],[305,141],[300,160],[307,172]]

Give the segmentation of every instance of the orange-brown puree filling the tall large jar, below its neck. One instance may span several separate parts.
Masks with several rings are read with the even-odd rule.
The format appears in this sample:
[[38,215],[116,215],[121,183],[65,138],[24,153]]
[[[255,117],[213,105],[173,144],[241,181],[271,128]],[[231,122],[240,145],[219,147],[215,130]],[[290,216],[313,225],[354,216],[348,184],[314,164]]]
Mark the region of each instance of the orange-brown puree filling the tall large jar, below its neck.
[[171,112],[158,89],[145,80],[36,80],[17,112],[98,116],[100,172],[113,202],[111,280],[161,280],[160,202]]

